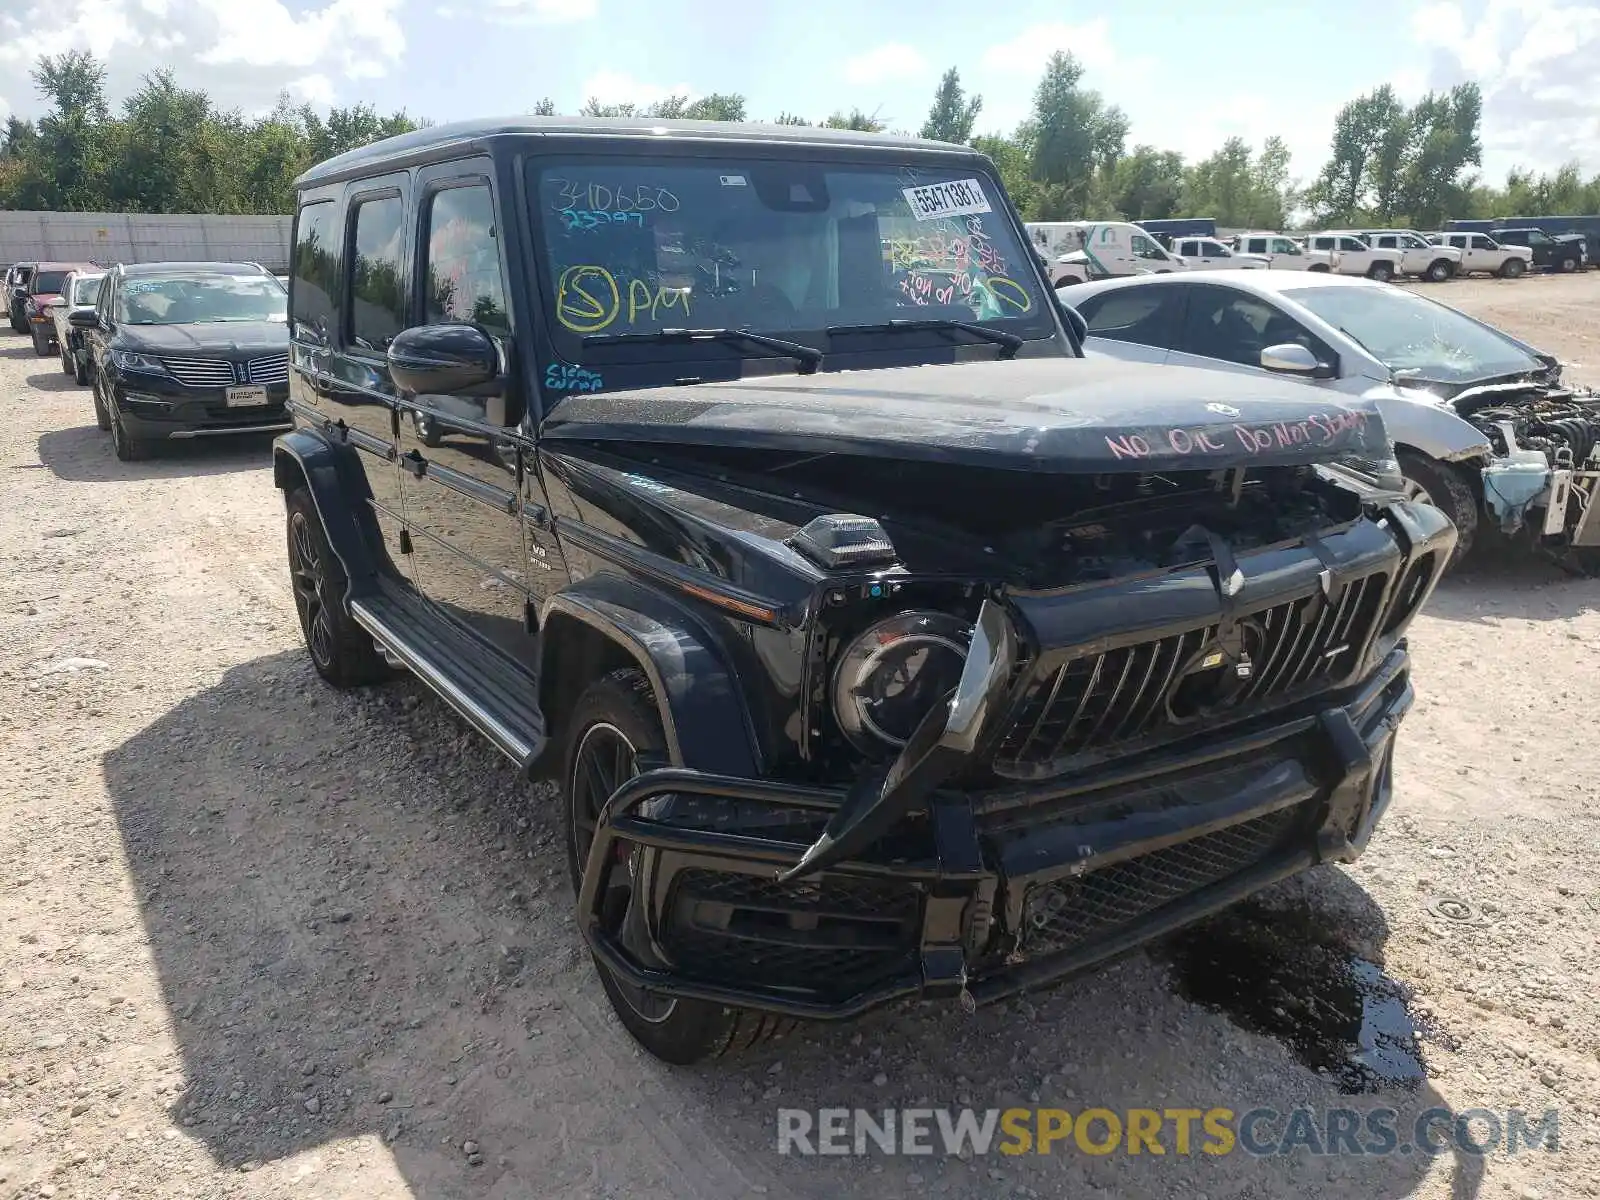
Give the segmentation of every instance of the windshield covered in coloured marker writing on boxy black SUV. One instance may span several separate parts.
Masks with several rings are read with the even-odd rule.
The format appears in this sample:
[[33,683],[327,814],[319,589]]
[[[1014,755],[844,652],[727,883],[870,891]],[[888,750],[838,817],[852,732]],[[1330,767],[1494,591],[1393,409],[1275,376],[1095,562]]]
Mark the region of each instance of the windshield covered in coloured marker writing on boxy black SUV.
[[[1054,333],[998,184],[970,166],[634,158],[534,170],[552,333],[574,363],[586,338],[672,328],[747,328],[829,352],[830,326],[837,336],[890,320]],[[654,342],[635,352],[685,354]]]

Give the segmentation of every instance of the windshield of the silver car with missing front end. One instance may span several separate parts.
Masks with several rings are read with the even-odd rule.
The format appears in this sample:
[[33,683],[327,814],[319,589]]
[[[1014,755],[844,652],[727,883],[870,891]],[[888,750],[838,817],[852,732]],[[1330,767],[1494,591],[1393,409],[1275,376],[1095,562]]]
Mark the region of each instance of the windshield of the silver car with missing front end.
[[1469,382],[1542,366],[1488,325],[1398,288],[1306,288],[1290,296],[1400,376]]

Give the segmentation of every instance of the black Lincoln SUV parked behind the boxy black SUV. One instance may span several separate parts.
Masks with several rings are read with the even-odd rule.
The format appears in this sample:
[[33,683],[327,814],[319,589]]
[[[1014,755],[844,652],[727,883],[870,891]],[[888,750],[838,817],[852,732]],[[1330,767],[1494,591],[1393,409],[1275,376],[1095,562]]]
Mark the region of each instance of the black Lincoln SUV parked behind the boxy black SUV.
[[123,461],[158,442],[290,427],[288,293],[254,262],[118,264],[67,320]]

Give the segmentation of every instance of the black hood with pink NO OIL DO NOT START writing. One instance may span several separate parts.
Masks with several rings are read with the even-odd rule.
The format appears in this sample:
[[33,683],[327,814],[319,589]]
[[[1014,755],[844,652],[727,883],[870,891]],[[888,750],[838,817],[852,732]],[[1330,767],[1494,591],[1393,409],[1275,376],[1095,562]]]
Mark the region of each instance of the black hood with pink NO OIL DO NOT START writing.
[[1109,472],[1389,458],[1368,400],[1114,358],[763,376],[562,400],[552,438],[749,446]]

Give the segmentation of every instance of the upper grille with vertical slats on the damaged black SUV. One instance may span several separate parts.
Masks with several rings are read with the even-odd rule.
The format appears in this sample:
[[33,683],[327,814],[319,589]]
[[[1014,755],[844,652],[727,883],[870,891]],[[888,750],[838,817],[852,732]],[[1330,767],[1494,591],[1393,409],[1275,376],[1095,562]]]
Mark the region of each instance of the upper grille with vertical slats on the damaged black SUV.
[[1104,754],[1262,701],[1309,693],[1355,664],[1379,614],[1387,576],[1370,574],[1323,598],[1320,592],[1240,618],[1251,675],[1232,664],[1197,674],[1216,650],[1216,626],[1074,658],[1027,696],[995,754],[1002,776],[1038,778],[1074,758]]

